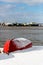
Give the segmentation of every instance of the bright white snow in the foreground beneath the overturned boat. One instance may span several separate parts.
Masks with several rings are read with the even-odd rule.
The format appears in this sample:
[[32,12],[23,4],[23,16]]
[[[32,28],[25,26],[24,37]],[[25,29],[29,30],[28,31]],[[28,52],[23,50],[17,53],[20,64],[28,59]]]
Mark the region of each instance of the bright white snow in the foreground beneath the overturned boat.
[[[0,48],[2,49],[2,48]],[[43,46],[10,53],[0,53],[0,65],[43,65]]]

